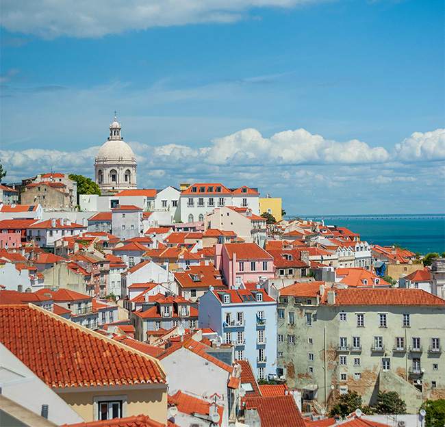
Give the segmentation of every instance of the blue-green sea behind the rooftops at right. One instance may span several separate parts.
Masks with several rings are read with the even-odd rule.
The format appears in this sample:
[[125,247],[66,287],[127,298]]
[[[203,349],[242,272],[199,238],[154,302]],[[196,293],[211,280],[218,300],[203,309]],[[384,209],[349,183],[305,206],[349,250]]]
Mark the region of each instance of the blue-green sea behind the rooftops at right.
[[400,244],[422,255],[445,252],[445,214],[424,215],[285,215],[284,219],[301,218],[325,225],[347,227],[360,234],[369,244]]

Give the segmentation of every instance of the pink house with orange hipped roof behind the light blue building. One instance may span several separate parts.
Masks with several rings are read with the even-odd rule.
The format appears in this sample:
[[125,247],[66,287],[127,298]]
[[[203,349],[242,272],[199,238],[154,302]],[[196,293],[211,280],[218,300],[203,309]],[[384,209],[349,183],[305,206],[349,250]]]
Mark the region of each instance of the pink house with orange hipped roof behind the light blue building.
[[256,243],[217,244],[215,268],[223,270],[229,289],[274,276],[272,256]]

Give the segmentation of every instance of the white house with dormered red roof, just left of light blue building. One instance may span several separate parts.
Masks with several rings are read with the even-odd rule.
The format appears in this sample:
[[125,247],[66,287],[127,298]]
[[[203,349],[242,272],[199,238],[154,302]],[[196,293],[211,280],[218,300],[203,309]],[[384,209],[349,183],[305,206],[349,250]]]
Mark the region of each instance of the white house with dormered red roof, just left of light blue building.
[[[195,304],[196,306],[196,304]],[[149,298],[142,304],[142,309],[130,311],[129,318],[134,326],[134,337],[139,341],[147,341],[153,331],[167,331],[179,324],[184,328],[198,326],[198,309],[192,307],[192,302],[181,296],[160,296]]]

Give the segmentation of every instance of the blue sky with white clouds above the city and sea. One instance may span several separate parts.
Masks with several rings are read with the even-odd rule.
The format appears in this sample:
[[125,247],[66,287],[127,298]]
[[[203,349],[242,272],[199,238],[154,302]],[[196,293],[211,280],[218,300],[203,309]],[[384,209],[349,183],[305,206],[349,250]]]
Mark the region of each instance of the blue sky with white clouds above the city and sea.
[[3,183],[257,187],[292,215],[445,213],[442,0],[2,0]]

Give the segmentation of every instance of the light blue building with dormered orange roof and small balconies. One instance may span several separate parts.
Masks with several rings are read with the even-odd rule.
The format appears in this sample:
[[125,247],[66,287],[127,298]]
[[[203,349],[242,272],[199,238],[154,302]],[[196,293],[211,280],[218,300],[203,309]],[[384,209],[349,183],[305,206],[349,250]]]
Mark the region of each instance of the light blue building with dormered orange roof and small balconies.
[[277,374],[277,302],[263,289],[209,290],[199,300],[199,327],[235,346],[258,378]]

